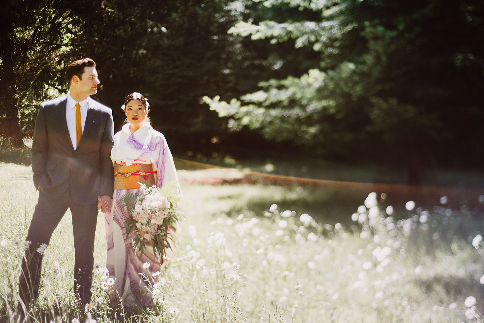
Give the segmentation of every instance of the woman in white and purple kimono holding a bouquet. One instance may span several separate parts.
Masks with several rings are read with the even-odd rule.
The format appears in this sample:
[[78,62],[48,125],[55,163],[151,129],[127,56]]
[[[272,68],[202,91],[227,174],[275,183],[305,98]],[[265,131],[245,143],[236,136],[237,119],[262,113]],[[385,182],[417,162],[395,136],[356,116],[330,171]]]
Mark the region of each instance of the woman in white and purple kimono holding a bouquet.
[[[173,157],[165,137],[151,127],[148,117],[148,100],[140,93],[129,94],[123,109],[127,123],[114,135],[111,159],[114,162],[114,193],[111,209],[106,212],[107,264],[109,276],[115,279],[112,300],[119,304],[120,297],[126,306],[148,306],[151,293],[145,286],[146,278],[160,270],[171,258],[172,249],[165,250],[164,259],[153,252],[152,244],[146,243],[143,255],[133,246],[131,234],[126,239],[124,220],[126,208],[119,199],[127,192],[138,192],[139,182],[162,187],[170,181],[178,181]],[[176,192],[181,194],[180,187]],[[174,236],[174,233],[172,232]],[[148,263],[148,264],[146,264]]]

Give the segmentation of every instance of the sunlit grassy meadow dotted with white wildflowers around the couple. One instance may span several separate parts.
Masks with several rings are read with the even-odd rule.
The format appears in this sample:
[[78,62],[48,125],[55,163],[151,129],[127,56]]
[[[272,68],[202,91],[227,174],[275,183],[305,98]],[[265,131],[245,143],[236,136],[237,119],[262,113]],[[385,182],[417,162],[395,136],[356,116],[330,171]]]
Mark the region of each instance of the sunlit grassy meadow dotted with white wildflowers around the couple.
[[[37,196],[30,167],[0,163],[0,169],[6,174],[0,182],[0,322],[15,322],[22,240]],[[152,308],[111,309],[99,214],[92,298],[97,322],[483,319],[484,250],[474,239],[484,230],[478,209],[449,207],[443,198],[432,208],[409,203],[409,210],[394,205],[392,212],[368,191],[348,201],[361,199],[359,206],[332,211],[324,202],[333,196],[328,188],[269,184],[184,184],[182,191],[186,217],[171,264],[153,284]],[[31,322],[76,322],[73,264],[68,211],[46,250]]]

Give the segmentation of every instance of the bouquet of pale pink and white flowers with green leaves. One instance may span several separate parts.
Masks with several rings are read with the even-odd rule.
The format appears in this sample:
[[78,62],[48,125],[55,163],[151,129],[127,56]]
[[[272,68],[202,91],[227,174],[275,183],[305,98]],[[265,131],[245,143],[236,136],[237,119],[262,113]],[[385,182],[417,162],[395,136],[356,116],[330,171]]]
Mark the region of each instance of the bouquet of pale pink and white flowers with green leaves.
[[129,213],[124,221],[126,240],[132,233],[135,234],[133,241],[141,255],[149,241],[153,243],[155,254],[160,257],[164,256],[166,248],[171,249],[168,241],[171,238],[170,231],[175,229],[181,218],[177,207],[181,197],[173,194],[176,187],[176,181],[163,188],[142,184],[138,193],[129,192],[121,197],[120,203]]

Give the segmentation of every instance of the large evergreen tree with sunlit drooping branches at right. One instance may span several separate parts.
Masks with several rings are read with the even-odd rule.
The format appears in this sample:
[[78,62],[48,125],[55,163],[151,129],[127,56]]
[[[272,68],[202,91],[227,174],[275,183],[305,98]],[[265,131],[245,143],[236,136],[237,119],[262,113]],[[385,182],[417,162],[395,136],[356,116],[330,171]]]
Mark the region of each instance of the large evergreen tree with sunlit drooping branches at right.
[[[246,19],[229,33],[318,53],[319,66],[263,80],[239,99],[205,97],[234,129],[260,129],[345,160],[480,164],[484,4],[477,0],[255,0],[312,11]],[[243,1],[247,5],[247,1]],[[275,9],[277,10],[277,9]]]

